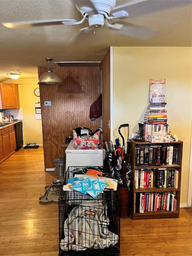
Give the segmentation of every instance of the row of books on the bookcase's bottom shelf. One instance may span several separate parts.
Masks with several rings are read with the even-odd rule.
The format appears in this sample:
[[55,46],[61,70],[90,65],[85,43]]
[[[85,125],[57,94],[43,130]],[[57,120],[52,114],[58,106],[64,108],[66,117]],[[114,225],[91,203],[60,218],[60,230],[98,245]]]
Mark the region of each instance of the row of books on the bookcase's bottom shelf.
[[136,193],[134,203],[135,213],[159,210],[175,212],[177,208],[175,191]]

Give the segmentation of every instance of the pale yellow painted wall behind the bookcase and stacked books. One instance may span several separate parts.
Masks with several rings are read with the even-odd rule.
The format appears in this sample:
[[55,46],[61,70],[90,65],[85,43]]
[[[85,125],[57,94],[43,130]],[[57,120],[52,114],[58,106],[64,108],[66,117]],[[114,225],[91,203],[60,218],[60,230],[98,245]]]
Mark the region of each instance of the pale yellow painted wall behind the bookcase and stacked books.
[[181,204],[187,203],[189,175],[191,53],[191,47],[113,47],[113,140],[121,124],[129,123],[130,133],[138,131],[149,104],[149,79],[165,78],[168,124],[184,142]]

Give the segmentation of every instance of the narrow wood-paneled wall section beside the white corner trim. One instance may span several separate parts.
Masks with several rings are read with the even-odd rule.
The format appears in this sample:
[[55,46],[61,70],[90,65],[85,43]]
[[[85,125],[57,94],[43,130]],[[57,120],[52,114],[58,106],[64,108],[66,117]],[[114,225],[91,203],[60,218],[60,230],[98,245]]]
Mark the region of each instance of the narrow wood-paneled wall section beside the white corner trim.
[[103,141],[110,141],[110,51],[102,62]]

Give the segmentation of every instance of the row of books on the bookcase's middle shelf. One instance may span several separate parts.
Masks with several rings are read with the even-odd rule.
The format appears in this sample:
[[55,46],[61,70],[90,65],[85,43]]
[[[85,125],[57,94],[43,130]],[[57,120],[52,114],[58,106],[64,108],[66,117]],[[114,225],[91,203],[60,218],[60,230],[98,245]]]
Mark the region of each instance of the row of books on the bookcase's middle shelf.
[[179,171],[175,168],[136,169],[135,188],[178,188]]

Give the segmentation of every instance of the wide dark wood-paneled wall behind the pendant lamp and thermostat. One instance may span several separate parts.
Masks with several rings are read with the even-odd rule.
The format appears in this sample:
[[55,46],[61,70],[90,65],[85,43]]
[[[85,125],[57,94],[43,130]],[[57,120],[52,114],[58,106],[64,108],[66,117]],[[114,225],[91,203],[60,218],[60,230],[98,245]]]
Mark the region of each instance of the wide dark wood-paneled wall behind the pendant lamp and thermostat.
[[[99,67],[52,67],[62,84],[39,85],[45,169],[53,168],[53,159],[61,152],[65,137],[73,136],[73,128],[88,127],[95,131],[101,127],[100,119],[91,121],[89,109],[100,95]],[[47,67],[38,67],[38,75]],[[51,101],[45,106],[44,101]]]

